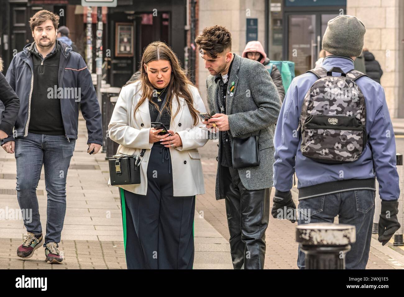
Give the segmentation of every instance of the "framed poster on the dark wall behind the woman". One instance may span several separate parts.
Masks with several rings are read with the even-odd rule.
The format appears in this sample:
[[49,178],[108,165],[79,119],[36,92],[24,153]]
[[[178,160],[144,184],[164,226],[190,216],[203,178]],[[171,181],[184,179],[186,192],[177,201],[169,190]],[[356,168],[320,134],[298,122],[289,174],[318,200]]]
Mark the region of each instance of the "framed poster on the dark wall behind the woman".
[[133,57],[133,23],[115,23],[115,56]]

